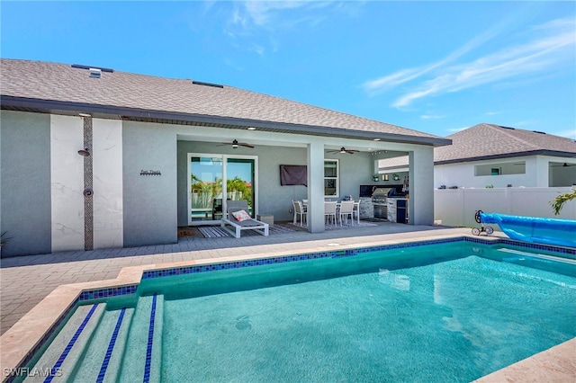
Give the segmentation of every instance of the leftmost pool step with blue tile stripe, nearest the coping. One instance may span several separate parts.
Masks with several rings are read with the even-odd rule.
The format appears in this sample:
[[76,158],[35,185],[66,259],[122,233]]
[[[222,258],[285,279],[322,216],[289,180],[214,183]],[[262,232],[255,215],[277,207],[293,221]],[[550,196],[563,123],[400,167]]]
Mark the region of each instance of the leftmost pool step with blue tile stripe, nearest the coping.
[[[67,381],[70,371],[75,370],[91,342],[104,309],[104,303],[77,307],[76,312],[70,316],[66,325],[31,368],[33,374],[24,379],[24,382]],[[49,369],[52,369],[52,374],[47,374]]]

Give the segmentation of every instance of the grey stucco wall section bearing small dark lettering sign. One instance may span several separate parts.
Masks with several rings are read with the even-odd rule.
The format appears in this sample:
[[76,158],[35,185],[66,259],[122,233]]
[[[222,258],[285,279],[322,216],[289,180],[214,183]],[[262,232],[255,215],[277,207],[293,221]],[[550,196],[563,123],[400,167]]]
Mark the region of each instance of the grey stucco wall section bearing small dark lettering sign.
[[[124,246],[177,242],[175,132],[124,121],[122,135]],[[161,175],[140,175],[147,170]]]

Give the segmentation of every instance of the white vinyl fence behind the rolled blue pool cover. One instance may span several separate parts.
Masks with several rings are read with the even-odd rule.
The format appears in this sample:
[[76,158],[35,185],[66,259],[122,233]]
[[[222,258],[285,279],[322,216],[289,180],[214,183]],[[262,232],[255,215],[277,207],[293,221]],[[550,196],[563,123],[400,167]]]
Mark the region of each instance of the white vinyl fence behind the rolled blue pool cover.
[[[564,203],[558,216],[554,216],[550,205],[558,194],[567,191],[572,191],[572,187],[437,189],[434,191],[434,220],[446,226],[478,227],[480,225],[474,220],[476,210],[513,216],[576,219],[576,200]],[[494,228],[499,229],[498,225]]]

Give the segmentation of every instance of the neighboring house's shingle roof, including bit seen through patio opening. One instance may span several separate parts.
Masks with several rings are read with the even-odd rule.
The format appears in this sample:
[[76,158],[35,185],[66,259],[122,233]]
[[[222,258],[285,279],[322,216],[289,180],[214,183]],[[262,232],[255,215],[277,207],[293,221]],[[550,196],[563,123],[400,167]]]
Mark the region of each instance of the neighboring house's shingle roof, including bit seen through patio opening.
[[[518,156],[576,157],[576,140],[544,132],[478,124],[446,138],[452,145],[434,148],[434,165]],[[381,160],[379,167],[406,167],[408,156]]]

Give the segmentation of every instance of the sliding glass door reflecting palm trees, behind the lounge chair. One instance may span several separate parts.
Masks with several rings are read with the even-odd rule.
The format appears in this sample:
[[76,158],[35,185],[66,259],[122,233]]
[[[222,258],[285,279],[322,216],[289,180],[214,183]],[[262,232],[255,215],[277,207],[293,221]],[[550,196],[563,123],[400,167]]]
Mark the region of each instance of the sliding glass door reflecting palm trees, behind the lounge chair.
[[226,200],[246,200],[254,217],[256,167],[256,156],[189,154],[188,225],[220,224]]

